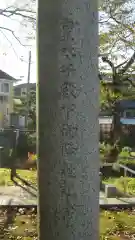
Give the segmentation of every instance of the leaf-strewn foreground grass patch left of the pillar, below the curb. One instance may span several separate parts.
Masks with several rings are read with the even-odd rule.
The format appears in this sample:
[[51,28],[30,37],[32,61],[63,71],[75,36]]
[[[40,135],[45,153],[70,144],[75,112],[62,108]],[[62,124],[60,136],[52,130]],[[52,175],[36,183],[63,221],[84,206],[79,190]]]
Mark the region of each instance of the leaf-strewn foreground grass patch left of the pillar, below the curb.
[[37,215],[33,208],[0,208],[1,240],[37,240]]

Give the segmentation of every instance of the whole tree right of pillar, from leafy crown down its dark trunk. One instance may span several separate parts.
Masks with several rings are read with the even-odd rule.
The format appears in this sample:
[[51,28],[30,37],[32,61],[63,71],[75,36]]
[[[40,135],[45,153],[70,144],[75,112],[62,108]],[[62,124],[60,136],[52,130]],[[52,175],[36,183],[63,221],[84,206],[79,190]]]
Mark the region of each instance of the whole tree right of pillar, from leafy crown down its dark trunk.
[[[128,4],[127,4],[128,3]],[[111,108],[113,116],[112,128],[112,144],[118,140],[120,136],[120,113],[117,109],[117,100],[122,99],[122,92],[120,86],[129,83],[135,87],[132,81],[132,72],[135,65],[135,31],[134,19],[131,19],[133,14],[133,7],[129,5],[128,1],[103,1],[100,7],[100,71],[99,77],[103,81],[102,71],[111,70],[110,77],[112,79],[113,89],[107,89],[102,85],[101,87],[101,105],[103,108]],[[104,13],[104,14],[103,14]],[[104,16],[104,17],[103,17]],[[103,30],[102,24],[106,24],[106,29]],[[131,58],[127,55],[131,55]],[[120,63],[118,63],[118,61]],[[103,66],[102,63],[105,65]],[[117,159],[117,156],[116,156]]]

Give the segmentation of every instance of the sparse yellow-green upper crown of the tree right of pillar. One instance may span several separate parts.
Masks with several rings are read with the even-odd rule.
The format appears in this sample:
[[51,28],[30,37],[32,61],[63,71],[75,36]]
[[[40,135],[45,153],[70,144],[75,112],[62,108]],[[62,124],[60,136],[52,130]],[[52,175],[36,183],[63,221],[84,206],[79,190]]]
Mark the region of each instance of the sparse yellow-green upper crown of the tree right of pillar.
[[104,0],[100,4],[100,54],[115,65],[134,52],[134,6],[132,0]]

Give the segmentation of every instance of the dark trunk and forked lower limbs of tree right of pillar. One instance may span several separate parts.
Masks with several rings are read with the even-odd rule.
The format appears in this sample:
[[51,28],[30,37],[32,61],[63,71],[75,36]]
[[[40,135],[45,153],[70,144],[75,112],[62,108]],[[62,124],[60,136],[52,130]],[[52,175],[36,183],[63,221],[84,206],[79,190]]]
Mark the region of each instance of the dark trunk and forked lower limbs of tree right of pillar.
[[[120,124],[120,109],[118,108],[118,100],[122,99],[123,93],[121,91],[121,86],[128,82],[132,87],[135,87],[129,74],[126,74],[128,69],[134,63],[134,53],[133,56],[126,62],[115,66],[111,60],[107,57],[102,57],[102,60],[111,67],[112,74],[112,89],[108,89],[106,84],[101,82],[101,108],[103,110],[111,109],[111,114],[113,116],[112,130],[110,134],[111,138],[111,151],[107,154],[107,159],[113,159],[115,162],[118,158],[118,154],[121,150],[120,148],[120,136],[121,136],[121,124]],[[122,66],[122,67],[121,67]],[[101,79],[100,75],[100,79]],[[107,160],[107,161],[108,161]]]

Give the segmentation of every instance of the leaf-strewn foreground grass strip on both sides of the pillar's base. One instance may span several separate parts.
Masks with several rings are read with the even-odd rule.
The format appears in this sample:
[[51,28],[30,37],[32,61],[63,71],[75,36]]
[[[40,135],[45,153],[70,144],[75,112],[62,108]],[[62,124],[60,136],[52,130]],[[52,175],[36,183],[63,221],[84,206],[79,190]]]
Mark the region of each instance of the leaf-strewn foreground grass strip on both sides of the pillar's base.
[[[34,208],[14,208],[9,220],[9,211],[1,211],[1,235],[3,240],[37,240],[38,216]],[[100,240],[134,239],[134,209],[100,211]]]

